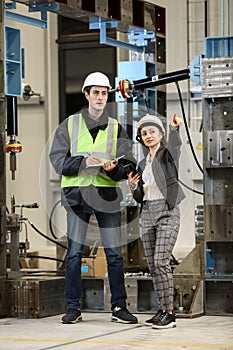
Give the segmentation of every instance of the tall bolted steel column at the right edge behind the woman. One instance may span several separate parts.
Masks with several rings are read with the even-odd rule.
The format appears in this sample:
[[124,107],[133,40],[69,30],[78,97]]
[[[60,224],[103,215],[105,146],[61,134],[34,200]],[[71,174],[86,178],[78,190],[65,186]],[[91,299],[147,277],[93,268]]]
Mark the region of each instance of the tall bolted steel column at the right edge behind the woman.
[[[221,38],[220,38],[221,41]],[[203,59],[206,313],[233,313],[233,59]]]

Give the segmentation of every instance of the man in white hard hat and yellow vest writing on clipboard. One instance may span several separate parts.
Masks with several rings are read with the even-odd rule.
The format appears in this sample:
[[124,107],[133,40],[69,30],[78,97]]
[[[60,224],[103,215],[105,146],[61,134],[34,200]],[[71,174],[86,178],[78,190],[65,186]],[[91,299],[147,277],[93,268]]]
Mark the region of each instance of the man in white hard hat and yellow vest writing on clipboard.
[[67,211],[68,250],[63,323],[82,320],[81,260],[87,226],[95,215],[104,246],[111,291],[113,322],[137,323],[126,307],[121,254],[122,193],[119,181],[127,179],[126,166],[136,163],[131,140],[105,106],[111,85],[101,72],[89,74],[82,91],[88,107],[69,116],[56,130],[50,151],[55,171],[62,176],[62,205]]

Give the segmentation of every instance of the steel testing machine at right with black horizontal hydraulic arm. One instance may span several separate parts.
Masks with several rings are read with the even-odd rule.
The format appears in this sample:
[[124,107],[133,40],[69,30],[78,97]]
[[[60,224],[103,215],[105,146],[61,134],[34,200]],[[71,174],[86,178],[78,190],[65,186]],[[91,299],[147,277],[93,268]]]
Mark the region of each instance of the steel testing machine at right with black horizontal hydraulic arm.
[[[206,38],[199,57],[203,95],[204,239],[174,270],[177,311],[195,316],[232,313],[232,37]],[[198,68],[196,58],[190,70]],[[193,65],[192,65],[193,64]],[[133,81],[118,90],[129,98],[135,90],[189,78],[189,70]],[[220,220],[219,220],[220,218]],[[216,303],[216,300],[220,301]],[[204,299],[203,299],[204,298]]]

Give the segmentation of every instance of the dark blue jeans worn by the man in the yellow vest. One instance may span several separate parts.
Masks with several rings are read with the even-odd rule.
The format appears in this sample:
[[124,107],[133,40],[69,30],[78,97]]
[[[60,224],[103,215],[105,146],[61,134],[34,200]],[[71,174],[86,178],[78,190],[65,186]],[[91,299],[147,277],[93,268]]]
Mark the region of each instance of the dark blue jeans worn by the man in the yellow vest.
[[68,250],[65,277],[67,309],[78,309],[81,307],[82,252],[92,212],[96,216],[105,250],[112,309],[116,305],[124,308],[126,307],[127,295],[121,254],[121,212],[103,213],[95,210],[85,211],[80,209],[74,212],[69,209],[67,210]]

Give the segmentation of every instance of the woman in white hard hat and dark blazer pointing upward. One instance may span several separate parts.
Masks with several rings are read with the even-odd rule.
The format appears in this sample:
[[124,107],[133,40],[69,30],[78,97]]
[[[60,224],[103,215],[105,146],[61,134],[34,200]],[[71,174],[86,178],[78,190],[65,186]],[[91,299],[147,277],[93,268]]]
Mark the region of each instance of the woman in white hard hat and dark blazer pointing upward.
[[137,140],[145,158],[138,174],[128,175],[134,199],[141,203],[140,237],[157,298],[157,313],[145,324],[155,329],[176,327],[173,276],[170,265],[179,226],[179,203],[184,193],[178,183],[181,119],[174,115],[168,143],[161,120],[146,115],[137,123]]

